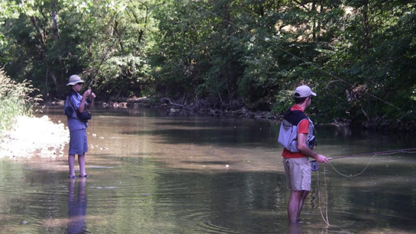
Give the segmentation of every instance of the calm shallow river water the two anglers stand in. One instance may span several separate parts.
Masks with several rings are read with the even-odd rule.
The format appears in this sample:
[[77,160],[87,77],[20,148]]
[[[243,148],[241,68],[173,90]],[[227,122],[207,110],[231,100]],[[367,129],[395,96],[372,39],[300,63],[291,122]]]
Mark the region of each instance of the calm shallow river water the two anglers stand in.
[[[66,123],[61,112],[43,114]],[[278,129],[267,120],[95,109],[89,178],[68,179],[66,155],[0,160],[0,233],[416,232],[411,153],[321,165],[301,223],[289,225]],[[316,130],[316,152],[328,157],[416,146],[403,135]]]

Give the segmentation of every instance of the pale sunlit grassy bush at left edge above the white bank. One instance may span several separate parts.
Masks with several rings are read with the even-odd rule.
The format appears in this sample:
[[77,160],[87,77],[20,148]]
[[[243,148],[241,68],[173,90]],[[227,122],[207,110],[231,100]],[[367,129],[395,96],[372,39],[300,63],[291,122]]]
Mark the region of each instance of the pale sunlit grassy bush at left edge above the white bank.
[[33,107],[39,100],[38,96],[30,96],[35,90],[30,81],[17,83],[0,69],[0,138],[18,116],[33,115]]

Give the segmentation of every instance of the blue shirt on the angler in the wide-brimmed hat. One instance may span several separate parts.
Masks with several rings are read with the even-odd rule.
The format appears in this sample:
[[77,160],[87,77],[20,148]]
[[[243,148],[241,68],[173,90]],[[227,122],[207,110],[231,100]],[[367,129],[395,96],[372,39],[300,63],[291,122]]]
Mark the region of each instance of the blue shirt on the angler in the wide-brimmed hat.
[[[74,90],[71,90],[71,92],[69,92],[69,94],[67,95],[67,99],[65,99],[64,112],[67,115],[69,131],[86,129],[88,127],[88,122],[78,120],[76,115],[76,110],[80,108],[81,100],[82,96]],[[86,107],[88,107],[87,102],[85,102],[85,108]]]

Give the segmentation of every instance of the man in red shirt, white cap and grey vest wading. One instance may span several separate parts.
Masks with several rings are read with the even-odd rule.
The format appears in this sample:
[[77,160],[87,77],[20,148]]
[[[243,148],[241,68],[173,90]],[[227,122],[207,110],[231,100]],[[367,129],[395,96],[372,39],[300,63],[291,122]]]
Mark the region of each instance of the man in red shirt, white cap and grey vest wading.
[[279,131],[279,144],[284,146],[283,164],[286,183],[290,189],[288,216],[290,222],[299,222],[303,202],[310,191],[311,166],[308,157],[319,163],[327,163],[324,155],[312,151],[316,146],[312,120],[303,112],[310,106],[316,93],[308,86],[294,90],[294,105],[285,112]]

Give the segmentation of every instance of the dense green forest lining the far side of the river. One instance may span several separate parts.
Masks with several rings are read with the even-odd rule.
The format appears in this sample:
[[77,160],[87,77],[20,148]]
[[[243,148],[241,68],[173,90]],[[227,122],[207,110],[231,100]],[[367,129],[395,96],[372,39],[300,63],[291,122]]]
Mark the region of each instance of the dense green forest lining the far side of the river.
[[281,114],[306,83],[319,122],[415,127],[410,0],[0,0],[0,66],[62,99],[72,74],[133,96]]

